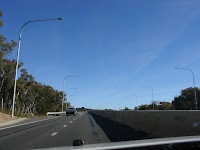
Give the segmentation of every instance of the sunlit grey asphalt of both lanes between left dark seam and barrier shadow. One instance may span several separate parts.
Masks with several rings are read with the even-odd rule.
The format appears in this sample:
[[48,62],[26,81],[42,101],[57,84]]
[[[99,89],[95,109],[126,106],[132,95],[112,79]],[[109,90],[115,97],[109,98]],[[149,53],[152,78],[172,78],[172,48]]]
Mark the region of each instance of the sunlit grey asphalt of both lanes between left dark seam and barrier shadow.
[[29,130],[12,133],[0,139],[0,149],[35,149],[72,146],[76,139],[85,144],[110,142],[105,133],[87,113],[63,117]]

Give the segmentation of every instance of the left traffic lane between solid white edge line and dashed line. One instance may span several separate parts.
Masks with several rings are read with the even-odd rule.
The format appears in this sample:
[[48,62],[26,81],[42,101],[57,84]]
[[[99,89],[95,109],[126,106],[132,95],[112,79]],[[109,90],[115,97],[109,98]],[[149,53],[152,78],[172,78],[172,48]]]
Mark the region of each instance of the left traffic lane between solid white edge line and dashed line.
[[42,140],[43,135],[49,133],[49,130],[58,130],[63,123],[70,122],[73,118],[74,116],[63,116],[58,117],[57,119],[52,119],[51,121],[41,121],[1,130],[0,149],[30,149],[31,146],[34,147],[34,145],[37,144],[37,140]]

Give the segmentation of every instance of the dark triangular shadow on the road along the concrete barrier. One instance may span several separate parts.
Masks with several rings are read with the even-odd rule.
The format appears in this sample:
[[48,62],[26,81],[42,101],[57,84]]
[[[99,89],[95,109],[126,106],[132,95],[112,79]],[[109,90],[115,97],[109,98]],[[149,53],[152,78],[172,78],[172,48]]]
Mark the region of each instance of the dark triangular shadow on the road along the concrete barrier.
[[93,113],[90,113],[90,115],[112,142],[142,140],[149,138],[144,132],[132,129],[126,125],[119,124]]

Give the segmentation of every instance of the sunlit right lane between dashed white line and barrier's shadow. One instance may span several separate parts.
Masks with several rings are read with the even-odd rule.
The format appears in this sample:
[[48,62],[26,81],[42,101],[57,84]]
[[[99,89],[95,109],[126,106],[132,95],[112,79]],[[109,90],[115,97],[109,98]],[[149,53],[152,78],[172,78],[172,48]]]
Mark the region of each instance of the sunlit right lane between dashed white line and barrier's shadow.
[[72,146],[73,141],[77,139],[83,140],[85,144],[110,142],[94,120],[92,120],[94,126],[91,125],[88,113],[84,113],[82,116],[77,117],[77,119],[75,117],[74,119],[66,124],[66,127],[63,125],[58,130],[52,129],[45,133],[42,140],[34,141],[37,145],[34,144],[31,148]]

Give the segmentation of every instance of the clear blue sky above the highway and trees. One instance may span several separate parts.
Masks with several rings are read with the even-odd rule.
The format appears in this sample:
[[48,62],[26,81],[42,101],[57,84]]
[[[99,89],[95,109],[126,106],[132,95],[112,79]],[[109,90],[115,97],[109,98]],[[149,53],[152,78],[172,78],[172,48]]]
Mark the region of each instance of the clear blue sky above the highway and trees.
[[[171,102],[184,88],[200,84],[200,1],[198,0],[3,0],[0,28],[18,41],[20,61],[36,81],[71,90],[77,107],[122,108],[154,99]],[[17,48],[12,58],[16,58]]]

